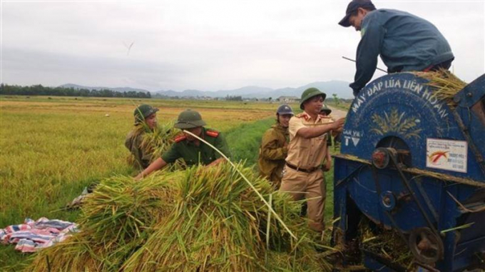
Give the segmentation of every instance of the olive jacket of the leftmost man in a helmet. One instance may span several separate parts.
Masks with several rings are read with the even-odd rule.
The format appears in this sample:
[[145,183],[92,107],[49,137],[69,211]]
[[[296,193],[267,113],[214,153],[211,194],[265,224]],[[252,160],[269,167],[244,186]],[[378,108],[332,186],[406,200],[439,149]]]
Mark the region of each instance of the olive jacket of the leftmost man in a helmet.
[[131,152],[131,155],[134,158],[133,166],[136,168],[145,169],[150,165],[152,153],[148,152],[146,148],[141,146],[143,136],[146,134],[146,132],[140,132],[139,129],[143,128],[137,127],[128,133],[125,139],[125,146]]

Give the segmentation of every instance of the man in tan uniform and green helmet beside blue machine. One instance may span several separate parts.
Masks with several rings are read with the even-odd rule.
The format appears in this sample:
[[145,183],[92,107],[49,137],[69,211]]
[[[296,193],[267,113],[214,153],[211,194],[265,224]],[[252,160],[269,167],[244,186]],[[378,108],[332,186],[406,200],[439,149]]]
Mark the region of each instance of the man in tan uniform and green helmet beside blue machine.
[[320,110],[326,94],[316,88],[302,94],[302,114],[290,119],[290,144],[280,191],[290,193],[295,200],[307,198],[310,228],[323,231],[325,186],[320,165],[327,156],[327,133],[342,131],[344,119],[322,118]]

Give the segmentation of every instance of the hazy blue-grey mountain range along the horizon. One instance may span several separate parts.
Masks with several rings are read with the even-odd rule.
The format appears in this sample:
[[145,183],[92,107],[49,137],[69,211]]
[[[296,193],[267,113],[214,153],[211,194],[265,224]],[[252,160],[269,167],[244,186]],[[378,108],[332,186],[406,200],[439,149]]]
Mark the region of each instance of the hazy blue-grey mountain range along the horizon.
[[[90,89],[90,90],[101,90],[108,89],[112,91],[143,91],[144,89],[134,89],[130,87],[124,88],[110,88],[110,87],[88,87],[76,84],[63,84],[60,87],[73,88],[73,89]],[[332,94],[337,94],[339,98],[349,99],[352,98],[352,89],[349,88],[349,82],[346,81],[317,81],[305,86],[300,86],[297,88],[282,88],[282,89],[271,89],[259,86],[245,86],[239,89],[233,90],[219,90],[219,91],[199,91],[199,90],[184,90],[184,91],[150,91],[152,96],[178,96],[178,97],[197,97],[197,96],[208,96],[208,97],[226,97],[226,96],[242,96],[245,99],[277,99],[280,96],[297,96],[300,97],[305,89],[315,87],[324,91],[328,97],[332,97]]]

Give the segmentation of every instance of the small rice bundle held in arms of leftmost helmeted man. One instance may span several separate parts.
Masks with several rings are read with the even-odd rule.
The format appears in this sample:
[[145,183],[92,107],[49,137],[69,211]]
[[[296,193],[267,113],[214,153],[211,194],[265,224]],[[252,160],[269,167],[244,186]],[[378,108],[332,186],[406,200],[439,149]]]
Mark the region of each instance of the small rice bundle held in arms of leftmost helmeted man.
[[[151,162],[155,161],[161,156],[168,148],[175,142],[175,136],[180,134],[178,129],[173,127],[173,123],[159,124],[155,129],[151,130],[147,124],[142,123],[133,129],[133,137],[143,134],[140,148],[147,153],[153,154]],[[136,165],[133,155],[128,156],[128,164]],[[175,161],[170,165],[170,169],[173,171],[181,170],[185,168],[183,161]]]

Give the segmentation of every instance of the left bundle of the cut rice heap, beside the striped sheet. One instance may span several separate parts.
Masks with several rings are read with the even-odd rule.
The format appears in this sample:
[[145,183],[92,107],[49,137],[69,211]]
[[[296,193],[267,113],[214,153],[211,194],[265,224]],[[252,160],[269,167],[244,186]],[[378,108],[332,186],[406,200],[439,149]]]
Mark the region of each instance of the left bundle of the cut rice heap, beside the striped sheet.
[[173,179],[107,178],[82,206],[81,231],[34,256],[26,271],[118,271],[172,209]]

